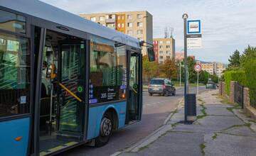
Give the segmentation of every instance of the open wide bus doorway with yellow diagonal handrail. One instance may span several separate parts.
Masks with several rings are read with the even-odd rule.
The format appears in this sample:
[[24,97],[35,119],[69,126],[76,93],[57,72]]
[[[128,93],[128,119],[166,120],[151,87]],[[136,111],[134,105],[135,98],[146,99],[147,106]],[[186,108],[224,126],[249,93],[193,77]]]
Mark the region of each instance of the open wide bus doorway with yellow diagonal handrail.
[[84,101],[84,41],[46,30],[41,84],[40,155],[48,155],[82,141]]

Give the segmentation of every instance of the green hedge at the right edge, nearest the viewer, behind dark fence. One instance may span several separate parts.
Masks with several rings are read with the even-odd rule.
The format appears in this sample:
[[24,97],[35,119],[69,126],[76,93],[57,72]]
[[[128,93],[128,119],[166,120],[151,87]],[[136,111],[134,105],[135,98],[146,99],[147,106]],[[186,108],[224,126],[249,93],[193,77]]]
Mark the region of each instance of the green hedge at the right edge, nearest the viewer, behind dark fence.
[[245,63],[245,75],[250,89],[250,105],[256,108],[256,60]]

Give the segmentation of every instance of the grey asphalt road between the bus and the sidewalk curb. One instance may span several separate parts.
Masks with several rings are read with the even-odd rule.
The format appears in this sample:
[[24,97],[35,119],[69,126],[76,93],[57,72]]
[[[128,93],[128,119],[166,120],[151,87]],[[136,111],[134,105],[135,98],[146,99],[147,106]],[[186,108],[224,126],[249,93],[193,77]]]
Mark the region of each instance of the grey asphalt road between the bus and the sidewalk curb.
[[[196,93],[196,87],[192,87],[189,90],[190,93]],[[200,87],[199,89],[200,92],[207,90],[206,87]],[[103,147],[82,145],[60,155],[112,155],[114,152],[130,147],[156,130],[156,128],[159,128],[169,116],[169,113],[178,106],[178,102],[182,97],[183,88],[176,89],[176,96],[149,96],[148,92],[144,91],[142,121],[115,131],[112,138],[110,138],[110,142]]]

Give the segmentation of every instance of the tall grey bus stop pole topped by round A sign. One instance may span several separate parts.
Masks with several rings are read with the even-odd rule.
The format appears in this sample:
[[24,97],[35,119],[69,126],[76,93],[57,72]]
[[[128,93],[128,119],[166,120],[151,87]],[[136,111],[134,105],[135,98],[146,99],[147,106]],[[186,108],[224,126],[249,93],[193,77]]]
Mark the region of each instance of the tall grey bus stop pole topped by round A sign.
[[186,31],[187,31],[187,18],[188,15],[186,13],[183,14],[183,20],[184,20],[184,65],[185,65],[185,86],[184,86],[184,123],[187,123],[187,116],[188,116],[188,111],[187,111],[187,38],[186,38]]

